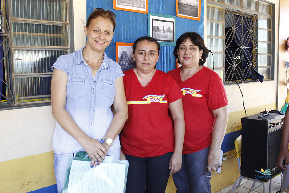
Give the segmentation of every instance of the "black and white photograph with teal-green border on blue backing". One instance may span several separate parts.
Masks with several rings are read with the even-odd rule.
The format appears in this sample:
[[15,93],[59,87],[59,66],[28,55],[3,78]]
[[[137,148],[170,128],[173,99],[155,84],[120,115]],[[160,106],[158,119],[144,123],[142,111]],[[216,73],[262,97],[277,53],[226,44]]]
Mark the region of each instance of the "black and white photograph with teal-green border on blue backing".
[[175,16],[149,13],[148,22],[149,36],[155,38],[161,46],[172,46],[175,43]]

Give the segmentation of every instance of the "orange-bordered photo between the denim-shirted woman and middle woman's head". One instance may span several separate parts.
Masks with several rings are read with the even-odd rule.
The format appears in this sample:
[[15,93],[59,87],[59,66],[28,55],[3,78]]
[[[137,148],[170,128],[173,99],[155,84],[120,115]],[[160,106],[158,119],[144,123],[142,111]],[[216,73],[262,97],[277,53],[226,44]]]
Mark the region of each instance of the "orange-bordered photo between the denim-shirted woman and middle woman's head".
[[122,71],[136,67],[136,62],[133,61],[133,43],[116,42],[116,61]]

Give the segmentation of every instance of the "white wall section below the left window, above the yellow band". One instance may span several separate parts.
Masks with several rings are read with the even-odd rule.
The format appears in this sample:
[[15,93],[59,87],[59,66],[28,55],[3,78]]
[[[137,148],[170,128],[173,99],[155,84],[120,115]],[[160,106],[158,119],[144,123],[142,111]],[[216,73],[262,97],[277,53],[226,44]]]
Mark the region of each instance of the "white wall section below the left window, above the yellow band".
[[51,106],[1,110],[0,117],[0,162],[53,151]]

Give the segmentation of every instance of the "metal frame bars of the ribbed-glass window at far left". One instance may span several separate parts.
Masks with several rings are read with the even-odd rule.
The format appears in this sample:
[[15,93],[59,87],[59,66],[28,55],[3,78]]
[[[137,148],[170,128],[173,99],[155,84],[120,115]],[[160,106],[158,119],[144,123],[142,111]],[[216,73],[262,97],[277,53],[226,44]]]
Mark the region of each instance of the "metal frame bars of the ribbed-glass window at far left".
[[[14,109],[14,108],[26,108],[26,107],[38,107],[38,106],[47,106],[51,105],[51,95],[50,98],[47,96],[48,99],[45,100],[34,100],[37,98],[32,96],[31,101],[17,103],[17,96],[16,94],[16,81],[15,78],[21,78],[21,77],[52,77],[52,72],[38,72],[38,73],[14,73],[14,58],[13,53],[17,50],[30,50],[30,51],[67,51],[67,53],[72,53],[74,51],[74,31],[73,31],[73,0],[64,0],[66,1],[66,11],[67,11],[67,22],[59,22],[59,21],[47,21],[47,20],[37,20],[37,19],[22,19],[22,18],[12,18],[11,14],[11,0],[1,0],[1,7],[2,10],[4,10],[4,16],[6,17],[9,31],[10,31],[10,47],[7,56],[4,59],[4,78],[5,82],[8,85],[5,87],[3,86],[2,90],[6,89],[6,96],[9,101],[6,101],[6,103],[0,103],[0,110],[3,109]],[[10,17],[11,15],[11,17]],[[0,16],[3,17],[3,16]],[[67,28],[67,34],[65,38],[67,37],[67,46],[14,46],[13,44],[13,32],[12,32],[12,23],[28,23],[28,24],[44,24],[44,25],[56,25],[56,26],[65,26]],[[48,65],[48,63],[47,63]],[[53,63],[50,64],[52,66]],[[49,67],[50,67],[49,66]],[[46,66],[47,68],[48,66]],[[1,81],[0,81],[1,82]],[[2,83],[2,82],[1,82]],[[47,84],[49,85],[49,84]],[[10,89],[10,91],[9,91]],[[12,96],[12,97],[11,97]],[[0,95],[1,98],[1,95]]]

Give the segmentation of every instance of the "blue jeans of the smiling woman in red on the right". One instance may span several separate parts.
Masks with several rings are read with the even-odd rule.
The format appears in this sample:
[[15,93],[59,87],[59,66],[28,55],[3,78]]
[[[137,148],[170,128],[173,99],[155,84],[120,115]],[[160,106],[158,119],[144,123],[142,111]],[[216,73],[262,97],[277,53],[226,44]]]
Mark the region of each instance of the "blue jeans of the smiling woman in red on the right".
[[204,174],[207,170],[209,150],[210,147],[207,147],[195,153],[182,155],[182,168],[172,175],[177,193],[211,192],[211,178],[207,178],[211,173],[207,171]]

